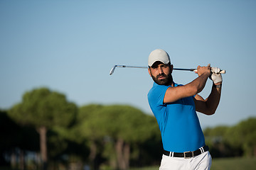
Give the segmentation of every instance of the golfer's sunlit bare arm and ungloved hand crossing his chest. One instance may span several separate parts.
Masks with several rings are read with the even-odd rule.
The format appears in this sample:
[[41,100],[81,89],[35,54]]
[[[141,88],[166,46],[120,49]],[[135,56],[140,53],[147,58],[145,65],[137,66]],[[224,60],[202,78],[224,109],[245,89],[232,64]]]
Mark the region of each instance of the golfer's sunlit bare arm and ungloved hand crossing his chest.
[[198,78],[194,79],[189,84],[184,86],[169,87],[164,96],[164,103],[171,103],[178,101],[181,98],[195,96],[201,92],[206,86],[206,81],[210,76],[210,64],[208,64],[207,67],[198,66],[197,70],[198,72],[196,73],[198,74]]

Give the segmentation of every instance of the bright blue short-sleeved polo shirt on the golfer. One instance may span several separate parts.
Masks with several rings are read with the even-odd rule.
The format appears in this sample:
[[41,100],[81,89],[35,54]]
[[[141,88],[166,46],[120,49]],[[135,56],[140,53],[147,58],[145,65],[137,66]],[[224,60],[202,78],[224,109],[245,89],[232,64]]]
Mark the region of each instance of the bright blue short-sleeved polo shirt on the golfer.
[[164,95],[169,87],[154,83],[148,94],[149,106],[159,124],[164,149],[169,152],[188,152],[203,147],[205,139],[193,96],[164,103]]

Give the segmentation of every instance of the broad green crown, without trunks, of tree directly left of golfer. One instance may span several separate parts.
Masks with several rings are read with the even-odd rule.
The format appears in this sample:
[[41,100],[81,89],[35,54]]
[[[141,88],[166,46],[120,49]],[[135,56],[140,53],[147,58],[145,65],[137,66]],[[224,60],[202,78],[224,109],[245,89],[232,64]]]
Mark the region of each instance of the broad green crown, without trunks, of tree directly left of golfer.
[[153,116],[132,106],[91,104],[80,108],[74,129],[77,137],[91,140],[111,137],[126,142],[144,142],[157,132],[157,125]]

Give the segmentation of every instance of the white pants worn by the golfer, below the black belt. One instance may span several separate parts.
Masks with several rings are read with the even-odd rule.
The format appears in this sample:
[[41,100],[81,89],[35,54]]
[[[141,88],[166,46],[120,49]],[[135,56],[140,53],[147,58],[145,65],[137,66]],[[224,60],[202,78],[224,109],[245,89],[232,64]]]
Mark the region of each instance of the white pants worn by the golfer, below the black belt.
[[163,154],[159,170],[210,170],[211,160],[210,152],[208,151],[188,159],[168,157]]

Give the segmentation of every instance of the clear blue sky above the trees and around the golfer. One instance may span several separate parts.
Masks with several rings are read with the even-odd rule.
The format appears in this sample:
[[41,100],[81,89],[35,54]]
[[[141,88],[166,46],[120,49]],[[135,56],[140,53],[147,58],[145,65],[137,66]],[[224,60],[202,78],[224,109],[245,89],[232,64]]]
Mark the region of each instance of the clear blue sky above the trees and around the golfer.
[[[256,1],[0,1],[0,108],[46,86],[78,106],[129,104],[151,114],[146,69],[152,50],[174,67],[226,69],[215,115],[203,127],[256,116]],[[193,72],[174,72],[186,84]],[[211,81],[201,96],[210,93]]]

